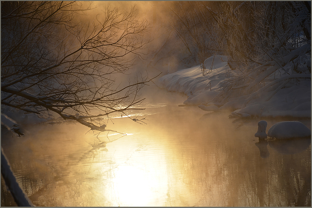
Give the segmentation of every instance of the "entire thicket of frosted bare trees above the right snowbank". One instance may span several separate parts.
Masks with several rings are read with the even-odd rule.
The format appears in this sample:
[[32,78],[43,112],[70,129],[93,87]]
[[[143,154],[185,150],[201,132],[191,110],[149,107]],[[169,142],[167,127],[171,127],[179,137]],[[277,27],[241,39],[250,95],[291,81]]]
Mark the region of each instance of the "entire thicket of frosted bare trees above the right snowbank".
[[[220,61],[229,66],[228,70],[219,74],[225,78],[217,84],[214,90],[216,95],[213,99],[209,96],[209,102],[206,102],[208,106],[205,107],[211,105],[215,108],[205,109],[219,109],[223,106],[223,109],[230,108],[238,112],[253,104],[252,108],[258,108],[253,109],[253,112],[260,112],[256,116],[261,116],[273,106],[269,101],[278,96],[288,104],[285,104],[284,110],[293,110],[294,115],[295,111],[310,106],[309,96],[297,101],[299,98],[296,99],[296,96],[301,92],[294,91],[296,86],[300,89],[310,88],[310,2],[172,2],[168,3],[168,7],[168,13],[175,17],[170,23],[196,65],[202,65],[205,57],[197,54],[202,48],[202,54],[212,57],[206,59],[206,63],[211,63],[211,69],[215,54],[222,55]],[[209,40],[208,43],[206,40]],[[209,78],[212,70],[203,67],[197,70],[200,68],[205,77],[199,79]],[[188,86],[186,82],[181,81],[180,84]],[[212,83],[209,82],[203,91],[210,88],[209,84]],[[200,94],[204,94],[203,91],[198,89]],[[191,90],[185,91],[187,95],[190,93]],[[291,98],[287,98],[288,95]],[[304,103],[300,103],[302,101]],[[290,105],[291,102],[298,102],[300,106]],[[304,114],[303,111],[301,113]],[[308,110],[305,114],[309,115]]]

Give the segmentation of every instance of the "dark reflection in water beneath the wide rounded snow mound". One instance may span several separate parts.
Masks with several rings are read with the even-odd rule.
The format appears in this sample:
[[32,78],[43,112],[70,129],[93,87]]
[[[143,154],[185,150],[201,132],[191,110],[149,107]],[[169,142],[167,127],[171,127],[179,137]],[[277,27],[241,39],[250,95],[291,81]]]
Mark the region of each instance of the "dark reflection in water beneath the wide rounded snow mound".
[[268,140],[270,147],[281,154],[296,154],[309,148],[311,138],[294,138],[289,140]]

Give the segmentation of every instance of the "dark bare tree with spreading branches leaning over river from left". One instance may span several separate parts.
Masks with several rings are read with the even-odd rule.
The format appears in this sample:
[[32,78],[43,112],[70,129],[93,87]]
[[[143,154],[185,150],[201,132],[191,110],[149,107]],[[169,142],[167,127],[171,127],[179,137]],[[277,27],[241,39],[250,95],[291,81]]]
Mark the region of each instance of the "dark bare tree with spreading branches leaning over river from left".
[[1,3],[2,111],[54,112],[104,131],[95,117],[126,114],[143,101],[138,92],[147,77],[118,88],[113,74],[142,55],[147,22],[136,19],[134,7],[105,7],[93,22],[82,21],[90,9],[81,2]]

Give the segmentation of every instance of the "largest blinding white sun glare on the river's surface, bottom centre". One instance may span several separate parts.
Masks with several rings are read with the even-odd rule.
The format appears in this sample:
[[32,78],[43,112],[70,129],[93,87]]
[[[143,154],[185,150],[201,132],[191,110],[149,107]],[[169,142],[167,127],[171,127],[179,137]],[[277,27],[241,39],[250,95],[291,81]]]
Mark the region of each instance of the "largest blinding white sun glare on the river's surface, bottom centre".
[[[109,171],[103,163],[94,164],[96,167],[93,167],[102,176],[93,187],[104,197],[104,201],[97,198],[99,205],[151,206],[165,203],[168,170],[166,163],[163,163],[164,153],[159,152],[158,148],[147,150],[144,145],[129,144],[127,140],[120,144],[110,143],[108,148],[107,156],[115,165]],[[110,173],[108,178],[105,177],[107,172]]]

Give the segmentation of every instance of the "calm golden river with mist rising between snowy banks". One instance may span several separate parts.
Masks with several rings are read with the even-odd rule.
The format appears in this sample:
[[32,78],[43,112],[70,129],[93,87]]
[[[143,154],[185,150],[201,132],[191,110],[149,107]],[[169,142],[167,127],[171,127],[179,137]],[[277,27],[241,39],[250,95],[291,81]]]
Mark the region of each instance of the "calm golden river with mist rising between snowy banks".
[[[36,206],[311,206],[311,140],[259,143],[257,119],[180,105],[149,87],[146,108],[81,124],[37,125],[1,145]],[[280,120],[267,120],[268,127]],[[311,120],[300,120],[311,127]],[[107,122],[107,121],[106,121]],[[143,123],[144,122],[144,123]],[[1,178],[1,206],[15,206]]]

